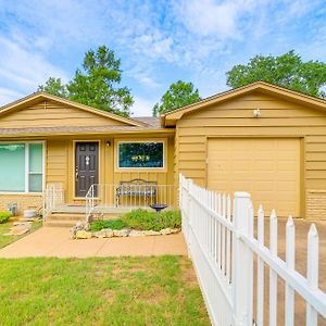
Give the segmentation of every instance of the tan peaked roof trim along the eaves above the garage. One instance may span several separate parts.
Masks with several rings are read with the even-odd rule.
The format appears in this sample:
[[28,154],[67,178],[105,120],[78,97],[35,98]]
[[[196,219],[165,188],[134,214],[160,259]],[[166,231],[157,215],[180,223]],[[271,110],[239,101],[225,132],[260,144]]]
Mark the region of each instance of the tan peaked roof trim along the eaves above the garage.
[[213,104],[218,104],[224,101],[233,100],[237,97],[249,95],[260,91],[267,96],[279,97],[284,100],[305,104],[310,108],[326,110],[326,101],[323,99],[314,98],[304,93],[292,91],[284,87],[267,84],[264,82],[255,82],[236,89],[231,89],[222,93],[217,93],[206,98],[200,102],[177,109],[161,116],[161,124],[164,126],[174,126],[176,121],[180,120],[185,114],[205,109]]

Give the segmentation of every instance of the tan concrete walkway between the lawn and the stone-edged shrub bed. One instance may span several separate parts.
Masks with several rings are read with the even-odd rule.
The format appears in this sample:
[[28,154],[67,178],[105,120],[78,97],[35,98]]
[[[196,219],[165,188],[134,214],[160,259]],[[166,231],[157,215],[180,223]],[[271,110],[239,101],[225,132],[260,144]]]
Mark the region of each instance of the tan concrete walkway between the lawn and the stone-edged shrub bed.
[[162,254],[187,254],[184,236],[178,234],[152,237],[72,240],[70,239],[68,228],[41,227],[0,250],[0,258],[149,256]]

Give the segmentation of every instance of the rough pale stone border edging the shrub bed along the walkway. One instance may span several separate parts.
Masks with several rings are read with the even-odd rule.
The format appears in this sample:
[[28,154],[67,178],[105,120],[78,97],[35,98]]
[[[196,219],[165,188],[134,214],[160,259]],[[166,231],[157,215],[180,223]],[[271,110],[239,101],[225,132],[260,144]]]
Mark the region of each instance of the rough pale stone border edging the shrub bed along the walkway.
[[90,239],[90,238],[113,238],[113,237],[147,237],[147,236],[163,236],[163,235],[173,235],[180,231],[180,228],[164,228],[160,231],[154,230],[136,230],[129,228],[123,229],[111,229],[103,228],[99,231],[89,231],[85,228],[85,224],[77,224],[71,229],[72,239]]

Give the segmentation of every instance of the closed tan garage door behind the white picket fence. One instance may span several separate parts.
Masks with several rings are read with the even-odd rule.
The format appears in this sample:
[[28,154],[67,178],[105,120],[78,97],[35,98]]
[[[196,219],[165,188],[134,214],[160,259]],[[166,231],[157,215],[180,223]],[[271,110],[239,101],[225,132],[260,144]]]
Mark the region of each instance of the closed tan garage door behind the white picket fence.
[[248,191],[254,210],[300,215],[299,139],[210,139],[208,151],[209,189]]

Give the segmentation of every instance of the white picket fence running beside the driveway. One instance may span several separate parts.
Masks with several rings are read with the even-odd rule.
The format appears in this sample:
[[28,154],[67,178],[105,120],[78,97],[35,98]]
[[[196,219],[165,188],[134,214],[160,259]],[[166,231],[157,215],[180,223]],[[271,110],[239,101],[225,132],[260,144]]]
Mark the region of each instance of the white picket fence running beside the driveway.
[[[319,318],[326,317],[326,294],[318,288],[318,234],[314,225],[308,234],[305,278],[294,268],[291,216],[286,225],[284,261],[277,254],[275,211],[269,217],[267,248],[262,206],[258,211],[258,237],[254,237],[254,212],[249,193],[236,192],[231,200],[229,196],[195,185],[183,175],[179,180],[183,233],[213,325],[279,325],[278,278],[285,284],[281,325],[294,325],[294,293],[305,301],[305,325],[317,325],[318,314]],[[269,272],[267,289],[265,267]],[[267,290],[269,298],[264,300]]]

